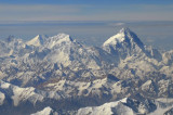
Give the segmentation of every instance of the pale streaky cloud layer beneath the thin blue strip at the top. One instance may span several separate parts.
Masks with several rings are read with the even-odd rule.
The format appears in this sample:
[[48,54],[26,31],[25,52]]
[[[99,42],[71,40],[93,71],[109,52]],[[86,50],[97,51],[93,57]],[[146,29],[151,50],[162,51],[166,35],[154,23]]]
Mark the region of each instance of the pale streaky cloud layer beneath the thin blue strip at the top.
[[172,11],[172,4],[0,4],[0,21],[173,21]]

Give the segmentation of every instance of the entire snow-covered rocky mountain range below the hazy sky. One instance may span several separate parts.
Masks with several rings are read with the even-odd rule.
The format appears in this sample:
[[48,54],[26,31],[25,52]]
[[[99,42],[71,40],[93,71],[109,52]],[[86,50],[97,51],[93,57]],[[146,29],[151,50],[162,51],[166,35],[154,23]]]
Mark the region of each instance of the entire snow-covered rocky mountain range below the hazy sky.
[[173,51],[122,28],[101,48],[69,35],[0,41],[3,115],[173,113]]

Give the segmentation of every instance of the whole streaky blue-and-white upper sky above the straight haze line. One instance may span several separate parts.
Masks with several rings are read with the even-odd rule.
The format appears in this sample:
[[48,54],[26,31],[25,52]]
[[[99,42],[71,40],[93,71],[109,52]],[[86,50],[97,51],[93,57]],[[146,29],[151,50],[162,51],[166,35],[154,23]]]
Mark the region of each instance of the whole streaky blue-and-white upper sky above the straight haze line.
[[173,0],[0,0],[0,21],[173,21]]

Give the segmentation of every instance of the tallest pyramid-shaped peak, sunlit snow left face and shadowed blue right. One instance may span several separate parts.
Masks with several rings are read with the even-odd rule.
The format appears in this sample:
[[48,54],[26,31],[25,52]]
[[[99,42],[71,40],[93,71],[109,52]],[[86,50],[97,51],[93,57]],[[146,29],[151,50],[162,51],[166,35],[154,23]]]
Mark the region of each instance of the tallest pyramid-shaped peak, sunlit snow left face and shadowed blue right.
[[145,52],[143,42],[129,28],[122,28],[117,35],[106,40],[103,49],[120,59]]

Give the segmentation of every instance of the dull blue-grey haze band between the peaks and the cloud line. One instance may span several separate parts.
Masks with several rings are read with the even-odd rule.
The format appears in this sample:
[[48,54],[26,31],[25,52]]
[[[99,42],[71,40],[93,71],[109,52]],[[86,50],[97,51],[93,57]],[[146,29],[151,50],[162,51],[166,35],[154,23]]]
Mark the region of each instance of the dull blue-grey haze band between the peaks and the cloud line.
[[[123,23],[119,22],[40,22],[34,24],[0,24],[0,39],[14,35],[16,38],[25,40],[34,38],[36,35],[54,36],[59,33],[70,35],[79,42],[88,46],[101,47],[110,36],[117,34],[122,27],[130,27],[147,46],[171,50],[173,49],[173,23],[172,22],[141,22]],[[167,46],[165,46],[167,44]]]

